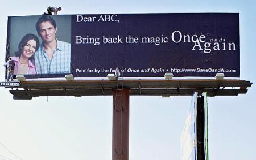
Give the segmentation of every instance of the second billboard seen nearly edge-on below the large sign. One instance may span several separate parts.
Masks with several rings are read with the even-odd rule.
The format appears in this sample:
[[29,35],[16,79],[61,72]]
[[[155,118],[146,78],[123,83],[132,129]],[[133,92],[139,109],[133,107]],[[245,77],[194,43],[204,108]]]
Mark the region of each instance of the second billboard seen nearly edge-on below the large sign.
[[181,160],[208,160],[207,93],[193,93],[185,126],[180,137]]

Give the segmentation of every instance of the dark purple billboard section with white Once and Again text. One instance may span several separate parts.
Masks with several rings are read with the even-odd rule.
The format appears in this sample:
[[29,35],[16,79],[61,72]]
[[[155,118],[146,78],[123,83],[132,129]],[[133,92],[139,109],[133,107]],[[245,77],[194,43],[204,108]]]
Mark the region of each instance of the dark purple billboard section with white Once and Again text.
[[238,14],[72,15],[75,77],[240,76]]

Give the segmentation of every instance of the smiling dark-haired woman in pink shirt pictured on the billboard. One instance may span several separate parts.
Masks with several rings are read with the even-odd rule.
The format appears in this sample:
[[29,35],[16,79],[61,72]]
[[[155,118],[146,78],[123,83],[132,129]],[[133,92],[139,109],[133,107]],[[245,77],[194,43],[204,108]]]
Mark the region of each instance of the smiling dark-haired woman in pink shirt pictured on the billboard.
[[14,75],[36,74],[34,54],[39,48],[39,40],[34,34],[26,34],[19,42],[19,50],[11,60],[15,62]]

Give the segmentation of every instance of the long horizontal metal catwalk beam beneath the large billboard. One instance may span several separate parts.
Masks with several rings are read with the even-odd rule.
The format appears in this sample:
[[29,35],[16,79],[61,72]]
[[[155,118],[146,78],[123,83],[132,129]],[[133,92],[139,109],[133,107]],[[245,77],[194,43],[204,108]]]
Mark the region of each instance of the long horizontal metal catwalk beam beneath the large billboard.
[[[127,80],[122,81],[23,81],[19,90],[10,90],[15,97],[27,96],[110,96],[117,87],[130,88],[130,95],[190,96],[208,92],[209,96],[245,94],[250,81],[245,80]],[[6,87],[9,88],[9,87]]]

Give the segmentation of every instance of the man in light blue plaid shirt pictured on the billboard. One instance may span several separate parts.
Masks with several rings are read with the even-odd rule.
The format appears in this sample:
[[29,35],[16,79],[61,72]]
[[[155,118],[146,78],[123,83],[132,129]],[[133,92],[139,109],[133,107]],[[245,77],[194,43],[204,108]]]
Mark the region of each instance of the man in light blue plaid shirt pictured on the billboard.
[[71,45],[57,40],[55,20],[49,15],[41,16],[36,22],[36,31],[43,41],[35,53],[36,72],[70,73]]

